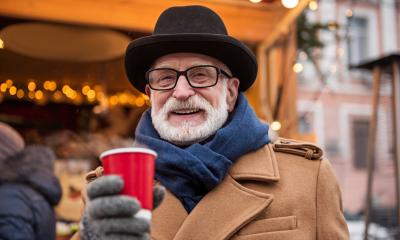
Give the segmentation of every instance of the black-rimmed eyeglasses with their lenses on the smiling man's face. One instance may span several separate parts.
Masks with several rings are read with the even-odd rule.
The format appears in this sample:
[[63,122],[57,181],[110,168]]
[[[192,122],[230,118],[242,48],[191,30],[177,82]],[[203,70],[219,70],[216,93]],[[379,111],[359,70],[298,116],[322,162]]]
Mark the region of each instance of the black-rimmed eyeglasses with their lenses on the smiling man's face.
[[212,65],[193,66],[185,71],[177,71],[173,68],[154,68],[146,72],[146,79],[153,90],[171,90],[175,88],[181,75],[186,77],[193,88],[212,87],[217,84],[218,76],[225,75],[232,78],[224,70]]

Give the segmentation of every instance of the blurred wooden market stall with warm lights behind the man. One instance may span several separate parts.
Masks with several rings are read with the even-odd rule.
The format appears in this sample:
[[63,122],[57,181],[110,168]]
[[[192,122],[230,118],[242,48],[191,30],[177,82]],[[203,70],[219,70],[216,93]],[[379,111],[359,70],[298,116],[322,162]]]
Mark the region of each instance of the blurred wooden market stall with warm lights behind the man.
[[[28,143],[56,152],[64,190],[60,220],[79,219],[83,176],[99,164],[98,154],[133,143],[134,128],[150,102],[129,84],[124,51],[131,40],[151,33],[169,6],[201,4],[218,12],[229,33],[257,55],[258,79],[246,92],[257,114],[268,122],[290,123],[282,124],[280,135],[297,134],[295,20],[310,1],[258,2],[0,2],[0,121],[16,127]],[[285,7],[288,2],[292,5]],[[69,235],[71,228],[61,229]]]

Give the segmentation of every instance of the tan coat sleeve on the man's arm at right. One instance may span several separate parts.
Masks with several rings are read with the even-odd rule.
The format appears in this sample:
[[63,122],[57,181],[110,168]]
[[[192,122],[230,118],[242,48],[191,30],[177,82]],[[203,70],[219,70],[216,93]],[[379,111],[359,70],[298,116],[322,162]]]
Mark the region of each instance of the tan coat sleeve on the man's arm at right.
[[321,161],[317,179],[317,239],[349,239],[343,215],[342,197],[329,161]]

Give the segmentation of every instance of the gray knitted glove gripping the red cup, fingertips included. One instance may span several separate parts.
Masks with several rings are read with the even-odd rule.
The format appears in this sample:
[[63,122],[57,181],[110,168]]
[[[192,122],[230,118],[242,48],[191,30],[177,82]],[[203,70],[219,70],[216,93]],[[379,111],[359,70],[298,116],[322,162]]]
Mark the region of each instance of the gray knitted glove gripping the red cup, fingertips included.
[[[140,203],[134,197],[121,195],[123,186],[123,180],[116,175],[102,176],[89,183],[89,199],[81,222],[83,240],[149,239],[150,222],[134,216],[140,210]],[[154,187],[154,208],[164,194],[163,187]]]

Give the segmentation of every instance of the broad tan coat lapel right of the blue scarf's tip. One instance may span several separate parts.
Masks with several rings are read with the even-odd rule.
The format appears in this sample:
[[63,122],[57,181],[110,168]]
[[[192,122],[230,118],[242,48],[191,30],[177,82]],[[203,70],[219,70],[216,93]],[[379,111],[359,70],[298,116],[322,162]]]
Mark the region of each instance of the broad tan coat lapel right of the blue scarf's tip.
[[197,204],[174,239],[228,239],[271,201],[271,195],[249,191],[227,175]]

